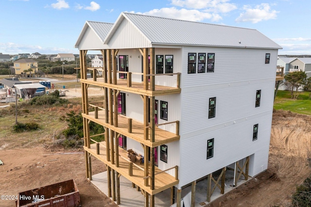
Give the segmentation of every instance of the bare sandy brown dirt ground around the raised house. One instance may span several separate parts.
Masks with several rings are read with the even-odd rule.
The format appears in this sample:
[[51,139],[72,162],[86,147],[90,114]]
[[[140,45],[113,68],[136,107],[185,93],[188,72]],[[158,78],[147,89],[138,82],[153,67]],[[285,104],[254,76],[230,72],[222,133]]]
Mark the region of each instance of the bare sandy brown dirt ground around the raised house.
[[[93,89],[89,89],[90,90]],[[94,88],[95,94],[102,94]],[[81,97],[80,91],[69,89],[67,98]],[[100,94],[98,94],[100,93]],[[286,207],[295,186],[311,173],[311,117],[277,111],[273,116],[268,170],[223,195],[210,207]],[[115,207],[106,195],[86,180],[83,151],[36,148],[10,149],[0,146],[0,195],[18,192],[74,179],[80,190],[83,207]],[[104,164],[92,160],[93,174],[103,172]],[[14,207],[15,200],[0,200],[0,207]]]

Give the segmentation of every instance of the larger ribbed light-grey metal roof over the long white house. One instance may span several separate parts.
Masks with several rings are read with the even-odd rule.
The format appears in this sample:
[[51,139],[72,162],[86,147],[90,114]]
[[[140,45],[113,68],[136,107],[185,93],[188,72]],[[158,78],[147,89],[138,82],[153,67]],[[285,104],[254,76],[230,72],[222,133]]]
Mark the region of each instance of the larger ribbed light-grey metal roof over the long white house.
[[133,13],[121,13],[107,35],[107,44],[126,18],[151,44],[282,49],[255,29],[208,24]]

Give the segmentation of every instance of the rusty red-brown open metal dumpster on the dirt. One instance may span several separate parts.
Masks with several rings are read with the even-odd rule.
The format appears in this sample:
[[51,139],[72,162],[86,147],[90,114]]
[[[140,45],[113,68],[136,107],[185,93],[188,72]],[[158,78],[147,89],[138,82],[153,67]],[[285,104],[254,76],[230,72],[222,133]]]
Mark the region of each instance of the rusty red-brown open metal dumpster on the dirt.
[[17,207],[80,207],[80,194],[74,180],[19,192]]

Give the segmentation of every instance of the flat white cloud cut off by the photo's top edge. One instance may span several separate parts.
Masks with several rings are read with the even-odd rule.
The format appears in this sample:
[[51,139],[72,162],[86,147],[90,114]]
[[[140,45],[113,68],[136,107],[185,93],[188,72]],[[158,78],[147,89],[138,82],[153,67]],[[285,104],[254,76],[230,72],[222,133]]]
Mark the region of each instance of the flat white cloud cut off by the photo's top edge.
[[237,9],[230,0],[172,0],[174,6],[180,6],[190,9],[207,9],[208,12],[228,13]]

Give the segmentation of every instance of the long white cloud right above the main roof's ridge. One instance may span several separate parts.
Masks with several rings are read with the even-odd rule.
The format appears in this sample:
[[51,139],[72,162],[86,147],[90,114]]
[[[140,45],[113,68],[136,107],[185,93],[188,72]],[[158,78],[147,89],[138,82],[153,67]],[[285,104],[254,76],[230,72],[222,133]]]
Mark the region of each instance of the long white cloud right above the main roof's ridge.
[[150,15],[150,16],[156,16],[156,17],[182,19],[182,20],[189,20],[189,21],[202,21],[204,19],[211,19],[212,21],[217,21],[217,20],[222,19],[222,17],[220,17],[219,15],[212,15],[206,12],[200,12],[198,10],[176,9],[175,7],[153,9],[149,12],[144,12],[144,13],[138,12],[138,14],[144,14],[144,15]]

